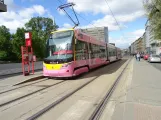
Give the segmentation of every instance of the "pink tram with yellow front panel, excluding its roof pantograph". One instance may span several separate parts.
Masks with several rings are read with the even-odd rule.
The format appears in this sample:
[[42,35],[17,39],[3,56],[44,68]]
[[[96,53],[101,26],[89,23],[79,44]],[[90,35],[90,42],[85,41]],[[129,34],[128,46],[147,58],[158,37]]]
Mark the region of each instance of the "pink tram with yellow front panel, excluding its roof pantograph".
[[52,32],[46,52],[43,62],[46,77],[77,76],[122,57],[119,48],[74,29]]

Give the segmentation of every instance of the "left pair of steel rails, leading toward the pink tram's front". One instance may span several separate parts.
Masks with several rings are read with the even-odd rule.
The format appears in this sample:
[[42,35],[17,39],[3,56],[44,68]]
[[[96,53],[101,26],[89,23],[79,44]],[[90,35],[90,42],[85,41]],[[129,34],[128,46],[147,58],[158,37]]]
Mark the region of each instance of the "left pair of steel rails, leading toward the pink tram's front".
[[[44,80],[42,80],[42,81],[44,81]],[[41,82],[42,82],[42,81],[41,81]],[[40,81],[39,81],[39,82],[40,82]],[[39,83],[39,82],[37,82],[37,83]],[[46,87],[40,88],[40,89],[38,89],[38,90],[36,90],[36,91],[33,91],[33,92],[29,93],[29,94],[22,95],[22,96],[20,96],[20,97],[17,97],[17,98],[15,98],[15,99],[11,99],[11,100],[9,100],[9,101],[7,101],[7,102],[4,102],[4,103],[0,103],[0,107],[3,107],[3,106],[8,105],[8,104],[10,104],[10,103],[16,102],[16,101],[18,101],[18,100],[21,100],[21,99],[23,99],[23,98],[26,98],[26,97],[28,97],[28,96],[31,96],[31,95],[36,94],[36,93],[38,93],[38,92],[41,92],[41,91],[43,91],[43,90],[46,90],[46,89],[48,89],[48,88],[51,88],[51,87],[56,86],[56,85],[58,85],[58,84],[61,84],[61,83],[63,83],[63,82],[66,82],[66,81],[60,81],[60,82],[57,82],[57,83],[48,85],[48,86],[46,86]],[[36,84],[36,83],[35,83],[35,84]],[[33,85],[33,84],[32,84],[32,85]],[[28,85],[27,85],[27,86],[28,86]],[[20,88],[24,88],[24,86],[22,86],[22,87],[20,87]],[[17,89],[19,89],[19,88],[17,88]],[[15,88],[15,90],[16,90],[16,88]],[[14,90],[10,90],[10,91],[12,92],[12,91],[14,91]],[[8,91],[8,92],[9,92],[9,91]],[[1,94],[5,94],[5,93],[6,93],[6,92],[1,93]]]

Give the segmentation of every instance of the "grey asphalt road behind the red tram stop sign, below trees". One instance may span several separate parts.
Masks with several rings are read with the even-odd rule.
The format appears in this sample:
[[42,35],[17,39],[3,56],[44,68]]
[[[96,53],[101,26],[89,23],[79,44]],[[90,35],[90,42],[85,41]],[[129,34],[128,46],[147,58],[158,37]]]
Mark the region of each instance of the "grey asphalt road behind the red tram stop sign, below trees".
[[[35,62],[35,70],[42,69],[42,62]],[[21,63],[0,64],[0,75],[22,72]]]

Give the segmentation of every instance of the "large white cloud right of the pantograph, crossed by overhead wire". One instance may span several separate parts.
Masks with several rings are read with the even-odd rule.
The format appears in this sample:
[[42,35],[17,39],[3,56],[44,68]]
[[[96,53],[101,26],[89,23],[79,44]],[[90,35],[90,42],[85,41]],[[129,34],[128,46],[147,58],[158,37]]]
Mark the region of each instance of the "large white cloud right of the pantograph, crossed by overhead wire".
[[118,26],[111,15],[106,0],[67,0],[67,2],[74,2],[76,4],[74,8],[79,13],[104,14],[103,18],[93,20],[87,26],[81,26],[86,28],[108,26],[110,31],[119,30],[119,26],[121,29],[127,28],[126,23],[135,21],[145,14],[142,0],[121,0],[121,4],[120,0],[107,0],[119,24]]

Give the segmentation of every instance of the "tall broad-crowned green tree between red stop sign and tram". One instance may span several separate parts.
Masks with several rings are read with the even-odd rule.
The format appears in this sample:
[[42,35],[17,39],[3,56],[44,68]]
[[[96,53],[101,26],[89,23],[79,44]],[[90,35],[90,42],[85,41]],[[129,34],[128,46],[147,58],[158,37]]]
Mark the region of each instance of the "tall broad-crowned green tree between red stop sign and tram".
[[26,29],[32,32],[32,45],[34,53],[38,58],[44,58],[45,43],[51,31],[58,28],[53,20],[45,17],[34,17],[25,24]]

